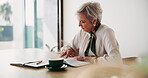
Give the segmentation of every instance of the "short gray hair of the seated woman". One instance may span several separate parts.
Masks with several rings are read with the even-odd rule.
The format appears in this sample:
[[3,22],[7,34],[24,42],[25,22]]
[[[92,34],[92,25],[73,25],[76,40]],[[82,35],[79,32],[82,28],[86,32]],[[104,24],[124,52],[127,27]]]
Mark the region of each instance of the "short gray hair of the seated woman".
[[77,11],[78,14],[85,14],[86,18],[92,21],[93,19],[98,19],[101,22],[102,19],[102,8],[98,2],[87,2],[82,5],[82,7]]

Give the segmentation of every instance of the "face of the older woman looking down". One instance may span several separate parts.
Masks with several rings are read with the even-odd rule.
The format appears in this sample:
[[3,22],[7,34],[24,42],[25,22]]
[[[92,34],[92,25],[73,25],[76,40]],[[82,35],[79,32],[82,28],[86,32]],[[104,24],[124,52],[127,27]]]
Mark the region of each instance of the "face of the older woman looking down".
[[81,27],[85,32],[91,32],[94,30],[92,23],[86,18],[82,13],[78,14],[79,27]]

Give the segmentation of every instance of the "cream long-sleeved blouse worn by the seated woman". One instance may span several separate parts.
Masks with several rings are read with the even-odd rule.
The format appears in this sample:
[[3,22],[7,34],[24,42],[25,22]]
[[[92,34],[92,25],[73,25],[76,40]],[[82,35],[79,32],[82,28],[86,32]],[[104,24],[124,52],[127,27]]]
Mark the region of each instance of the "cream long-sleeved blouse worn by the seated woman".
[[[114,31],[106,25],[100,25],[95,35],[97,60],[99,62],[122,62]],[[75,51],[75,55],[84,57],[89,38],[89,33],[82,29],[75,35],[69,45]],[[88,56],[94,56],[94,53],[89,52]]]

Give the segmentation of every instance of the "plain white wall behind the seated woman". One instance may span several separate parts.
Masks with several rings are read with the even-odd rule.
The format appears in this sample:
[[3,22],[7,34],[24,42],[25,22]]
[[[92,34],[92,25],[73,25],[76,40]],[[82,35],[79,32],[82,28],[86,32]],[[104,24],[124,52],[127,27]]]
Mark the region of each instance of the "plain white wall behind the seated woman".
[[[91,0],[64,0],[64,40],[79,31],[76,10]],[[148,0],[94,0],[103,8],[102,23],[115,31],[122,57],[148,52]]]

